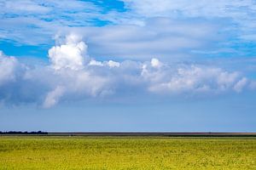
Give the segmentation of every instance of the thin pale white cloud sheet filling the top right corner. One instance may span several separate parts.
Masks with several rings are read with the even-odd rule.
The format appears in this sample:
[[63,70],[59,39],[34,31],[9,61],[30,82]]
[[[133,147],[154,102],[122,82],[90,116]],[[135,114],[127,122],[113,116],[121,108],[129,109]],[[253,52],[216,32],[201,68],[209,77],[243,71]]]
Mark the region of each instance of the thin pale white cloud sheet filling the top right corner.
[[[133,16],[140,19],[167,17],[176,20],[212,20],[218,25],[227,23],[224,29],[227,35],[236,31],[234,36],[243,41],[255,41],[253,20],[256,18],[254,0],[123,0],[125,7]],[[214,21],[215,20],[215,21]],[[189,22],[189,21],[188,21]]]

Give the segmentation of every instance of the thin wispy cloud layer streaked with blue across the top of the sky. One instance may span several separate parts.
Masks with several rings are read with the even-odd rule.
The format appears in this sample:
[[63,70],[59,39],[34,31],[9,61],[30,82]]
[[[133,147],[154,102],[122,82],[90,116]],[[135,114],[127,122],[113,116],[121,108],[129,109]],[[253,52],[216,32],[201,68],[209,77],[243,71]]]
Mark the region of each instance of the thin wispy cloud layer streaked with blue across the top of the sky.
[[101,1],[0,1],[0,39],[49,44],[55,34],[84,30],[93,56],[254,54],[253,0],[122,2],[107,8]]

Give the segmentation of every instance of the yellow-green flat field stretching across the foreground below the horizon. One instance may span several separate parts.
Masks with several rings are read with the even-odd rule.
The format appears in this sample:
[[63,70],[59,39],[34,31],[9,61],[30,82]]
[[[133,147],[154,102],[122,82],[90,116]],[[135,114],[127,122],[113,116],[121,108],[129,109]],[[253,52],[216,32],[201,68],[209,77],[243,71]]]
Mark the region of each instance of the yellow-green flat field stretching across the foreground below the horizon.
[[256,139],[0,136],[0,169],[256,169]]

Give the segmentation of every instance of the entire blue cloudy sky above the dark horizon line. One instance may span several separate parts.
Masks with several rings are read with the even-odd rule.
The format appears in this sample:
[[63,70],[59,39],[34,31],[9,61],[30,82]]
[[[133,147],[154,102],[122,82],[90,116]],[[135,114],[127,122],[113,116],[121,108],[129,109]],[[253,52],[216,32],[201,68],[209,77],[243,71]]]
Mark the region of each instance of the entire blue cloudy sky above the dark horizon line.
[[255,0],[0,0],[0,131],[256,132]]

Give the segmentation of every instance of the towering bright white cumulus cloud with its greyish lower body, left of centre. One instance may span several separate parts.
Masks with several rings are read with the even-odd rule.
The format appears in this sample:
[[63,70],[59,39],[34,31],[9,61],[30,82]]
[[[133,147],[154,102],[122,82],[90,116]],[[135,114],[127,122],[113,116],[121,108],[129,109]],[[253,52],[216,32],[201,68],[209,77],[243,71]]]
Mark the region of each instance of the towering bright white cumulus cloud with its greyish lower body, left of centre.
[[[57,41],[61,42],[61,41]],[[119,66],[112,60],[101,61],[91,59],[87,55],[87,45],[76,34],[68,35],[64,44],[56,44],[49,49],[49,67],[52,68],[52,78],[56,81],[53,90],[44,99],[44,107],[49,108],[66,94],[68,99],[83,99],[110,94],[111,80],[90,69],[90,65]]]

